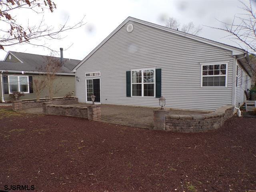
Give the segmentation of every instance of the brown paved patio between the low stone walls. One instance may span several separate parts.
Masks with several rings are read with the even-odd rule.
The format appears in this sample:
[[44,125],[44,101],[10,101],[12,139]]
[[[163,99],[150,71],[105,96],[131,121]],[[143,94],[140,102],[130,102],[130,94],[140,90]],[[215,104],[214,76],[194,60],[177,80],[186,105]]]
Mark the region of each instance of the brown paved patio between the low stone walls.
[[[88,104],[68,104],[66,106],[87,106]],[[99,121],[132,126],[138,128],[152,129],[154,123],[153,111],[159,108],[120,106],[120,105],[101,105],[101,119]],[[28,108],[21,112],[43,114],[42,108]],[[170,110],[169,114],[203,114],[206,112]]]

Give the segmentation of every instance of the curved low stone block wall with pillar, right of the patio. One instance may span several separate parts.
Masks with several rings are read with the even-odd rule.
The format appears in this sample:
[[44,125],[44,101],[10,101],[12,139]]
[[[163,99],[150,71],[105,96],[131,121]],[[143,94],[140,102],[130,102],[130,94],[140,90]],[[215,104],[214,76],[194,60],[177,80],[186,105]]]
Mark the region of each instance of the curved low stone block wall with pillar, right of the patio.
[[[154,129],[176,132],[204,132],[222,126],[226,119],[233,116],[234,106],[223,106],[215,112],[200,115],[168,115],[166,112],[157,113],[157,111],[154,111]],[[164,114],[164,118],[159,114]],[[160,127],[157,127],[161,120]],[[163,120],[165,120],[165,123]]]

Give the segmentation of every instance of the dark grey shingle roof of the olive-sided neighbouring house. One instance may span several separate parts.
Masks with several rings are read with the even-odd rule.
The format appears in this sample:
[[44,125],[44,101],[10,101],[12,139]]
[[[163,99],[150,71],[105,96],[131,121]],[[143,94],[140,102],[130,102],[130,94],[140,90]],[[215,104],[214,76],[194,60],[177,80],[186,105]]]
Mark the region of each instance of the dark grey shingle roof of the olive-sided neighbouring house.
[[[25,71],[25,72],[34,72],[40,73],[44,72],[44,66],[46,61],[46,56],[30,54],[30,53],[22,53],[22,52],[14,52],[10,51],[10,54],[15,56],[20,62],[8,62],[8,61],[0,61],[0,70],[5,71]],[[8,55],[8,54],[7,54]],[[53,57],[56,59],[60,59],[58,57]],[[80,60],[76,59],[67,59],[63,58],[63,66],[60,68],[58,74],[74,74],[72,69],[80,62]]]

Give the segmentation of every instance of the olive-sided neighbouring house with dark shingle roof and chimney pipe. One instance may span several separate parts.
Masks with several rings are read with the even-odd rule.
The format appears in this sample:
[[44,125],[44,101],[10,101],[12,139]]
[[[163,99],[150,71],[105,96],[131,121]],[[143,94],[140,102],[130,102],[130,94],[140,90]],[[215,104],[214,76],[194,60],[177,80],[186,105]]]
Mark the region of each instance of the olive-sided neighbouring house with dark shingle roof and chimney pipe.
[[[62,51],[62,50],[61,50]],[[63,53],[61,54],[63,55]],[[54,60],[60,58],[51,57]],[[71,72],[80,60],[62,58],[63,65],[56,73],[54,80],[54,98],[61,98],[71,94],[75,96],[75,75]],[[24,92],[20,100],[36,99],[33,88],[34,80],[44,78],[46,56],[10,51],[4,61],[0,61],[0,101],[12,100],[12,92]],[[41,99],[48,95],[47,88],[40,94]]]

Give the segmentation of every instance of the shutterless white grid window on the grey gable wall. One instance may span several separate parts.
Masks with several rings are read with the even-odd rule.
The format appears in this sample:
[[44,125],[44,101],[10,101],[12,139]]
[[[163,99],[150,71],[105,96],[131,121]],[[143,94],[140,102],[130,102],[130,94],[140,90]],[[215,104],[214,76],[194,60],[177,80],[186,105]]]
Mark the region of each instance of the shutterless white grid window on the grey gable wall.
[[202,87],[226,87],[227,64],[202,65]]

